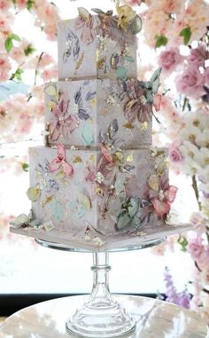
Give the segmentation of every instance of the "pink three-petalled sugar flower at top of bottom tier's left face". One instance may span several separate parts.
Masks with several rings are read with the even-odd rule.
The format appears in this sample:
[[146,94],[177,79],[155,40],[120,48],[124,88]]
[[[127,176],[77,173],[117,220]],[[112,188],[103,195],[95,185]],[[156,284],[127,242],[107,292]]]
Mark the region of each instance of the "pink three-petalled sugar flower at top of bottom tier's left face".
[[67,177],[71,177],[74,174],[73,166],[66,162],[66,150],[61,143],[58,143],[58,156],[50,162],[50,172],[58,169],[63,169]]

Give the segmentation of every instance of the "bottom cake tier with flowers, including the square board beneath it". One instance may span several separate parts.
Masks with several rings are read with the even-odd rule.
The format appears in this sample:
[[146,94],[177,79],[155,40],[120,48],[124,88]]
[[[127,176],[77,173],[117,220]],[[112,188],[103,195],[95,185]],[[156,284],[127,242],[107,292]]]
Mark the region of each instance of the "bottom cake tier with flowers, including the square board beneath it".
[[12,232],[72,248],[138,245],[187,229],[166,220],[176,188],[169,185],[165,149],[34,147],[29,150],[32,200]]

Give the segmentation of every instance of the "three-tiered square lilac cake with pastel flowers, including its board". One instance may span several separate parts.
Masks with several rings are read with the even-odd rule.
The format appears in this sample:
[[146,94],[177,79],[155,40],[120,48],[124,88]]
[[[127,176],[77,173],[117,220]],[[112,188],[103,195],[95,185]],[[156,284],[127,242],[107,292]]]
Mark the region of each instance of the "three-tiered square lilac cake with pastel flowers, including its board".
[[58,83],[45,86],[46,146],[29,149],[32,200],[11,231],[73,248],[138,245],[168,225],[177,188],[166,150],[151,146],[158,69],[136,79],[140,19],[84,9],[58,23]]

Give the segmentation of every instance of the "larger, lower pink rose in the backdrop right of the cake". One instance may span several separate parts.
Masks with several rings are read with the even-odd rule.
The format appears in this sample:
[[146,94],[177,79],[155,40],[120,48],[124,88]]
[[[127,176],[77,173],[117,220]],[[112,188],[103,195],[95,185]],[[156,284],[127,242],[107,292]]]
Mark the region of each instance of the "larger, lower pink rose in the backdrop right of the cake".
[[200,98],[204,93],[204,77],[196,67],[184,70],[182,75],[176,80],[176,89],[190,98]]

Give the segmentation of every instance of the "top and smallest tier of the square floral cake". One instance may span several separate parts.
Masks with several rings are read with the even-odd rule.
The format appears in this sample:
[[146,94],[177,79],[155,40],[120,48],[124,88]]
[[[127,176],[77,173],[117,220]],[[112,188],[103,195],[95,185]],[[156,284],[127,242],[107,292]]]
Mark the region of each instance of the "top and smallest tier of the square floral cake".
[[87,14],[59,21],[58,78],[135,78],[135,28],[122,29],[118,20]]

